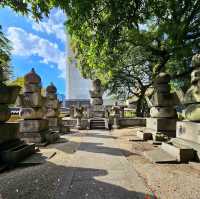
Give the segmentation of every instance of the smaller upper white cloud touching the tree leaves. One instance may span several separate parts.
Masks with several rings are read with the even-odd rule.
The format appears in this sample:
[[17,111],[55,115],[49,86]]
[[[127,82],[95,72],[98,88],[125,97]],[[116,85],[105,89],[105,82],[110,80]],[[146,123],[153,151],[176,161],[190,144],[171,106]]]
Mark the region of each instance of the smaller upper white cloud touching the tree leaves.
[[42,22],[32,21],[32,28],[38,32],[55,35],[62,42],[66,42],[66,34],[64,30],[64,22],[66,15],[61,10],[53,10],[49,18]]

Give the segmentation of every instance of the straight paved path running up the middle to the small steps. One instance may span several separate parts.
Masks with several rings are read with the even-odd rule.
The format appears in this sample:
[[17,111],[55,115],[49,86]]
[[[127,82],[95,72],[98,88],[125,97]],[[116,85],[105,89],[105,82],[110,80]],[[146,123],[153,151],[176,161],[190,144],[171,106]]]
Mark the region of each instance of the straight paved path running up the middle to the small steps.
[[[88,131],[74,154],[71,183],[60,198],[135,199],[150,198],[142,178],[130,167],[108,131]],[[68,182],[66,181],[67,187]],[[64,190],[64,189],[63,189]]]

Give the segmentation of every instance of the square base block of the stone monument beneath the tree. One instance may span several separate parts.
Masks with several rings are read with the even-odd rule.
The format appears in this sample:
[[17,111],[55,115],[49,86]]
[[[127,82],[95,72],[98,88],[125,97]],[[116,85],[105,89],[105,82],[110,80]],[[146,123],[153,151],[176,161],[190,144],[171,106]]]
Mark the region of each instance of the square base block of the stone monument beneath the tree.
[[176,119],[147,118],[146,127],[154,131],[176,131]]

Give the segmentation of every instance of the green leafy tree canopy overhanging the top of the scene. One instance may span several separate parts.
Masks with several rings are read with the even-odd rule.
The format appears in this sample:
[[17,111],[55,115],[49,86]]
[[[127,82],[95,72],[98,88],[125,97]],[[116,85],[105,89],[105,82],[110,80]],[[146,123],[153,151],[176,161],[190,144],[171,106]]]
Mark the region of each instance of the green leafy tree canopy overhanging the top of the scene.
[[167,71],[178,86],[187,82],[191,57],[199,52],[200,0],[4,0],[6,5],[36,19],[52,7],[63,9],[82,74],[101,77],[105,84],[116,70],[125,70],[116,60],[126,58],[127,47],[148,55],[152,79]]

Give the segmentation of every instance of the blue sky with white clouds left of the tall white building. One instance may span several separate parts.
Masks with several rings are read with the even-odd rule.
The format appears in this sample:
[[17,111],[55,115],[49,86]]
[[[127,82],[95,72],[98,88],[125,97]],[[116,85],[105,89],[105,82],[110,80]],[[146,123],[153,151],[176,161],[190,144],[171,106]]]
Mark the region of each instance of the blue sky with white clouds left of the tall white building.
[[60,10],[52,10],[49,18],[37,23],[11,9],[0,9],[0,25],[13,46],[13,79],[24,76],[34,67],[43,87],[53,82],[60,94],[65,93],[68,46],[65,20]]

